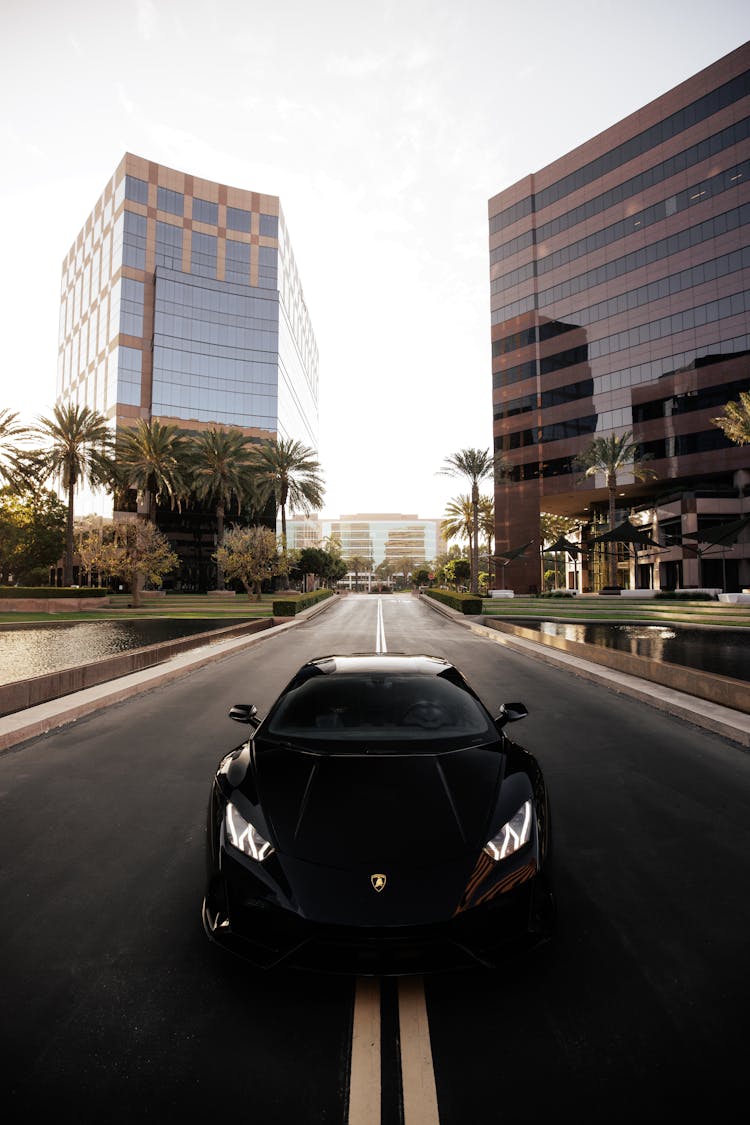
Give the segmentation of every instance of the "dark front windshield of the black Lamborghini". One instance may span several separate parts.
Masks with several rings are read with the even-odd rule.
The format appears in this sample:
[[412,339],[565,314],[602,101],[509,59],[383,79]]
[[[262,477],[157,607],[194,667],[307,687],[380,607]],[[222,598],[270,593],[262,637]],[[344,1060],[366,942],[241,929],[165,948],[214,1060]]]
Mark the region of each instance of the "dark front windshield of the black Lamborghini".
[[291,687],[265,723],[277,737],[368,740],[494,738],[470,692],[442,676],[372,673],[315,675]]

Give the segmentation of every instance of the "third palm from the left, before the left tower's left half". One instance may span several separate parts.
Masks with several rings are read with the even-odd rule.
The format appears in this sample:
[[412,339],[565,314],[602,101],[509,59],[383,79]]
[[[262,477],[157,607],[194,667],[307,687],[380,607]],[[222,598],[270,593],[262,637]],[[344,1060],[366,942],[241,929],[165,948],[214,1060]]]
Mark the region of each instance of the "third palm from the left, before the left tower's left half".
[[146,519],[156,522],[156,505],[169,497],[171,507],[180,507],[190,490],[190,443],[178,426],[163,425],[159,418],[139,418],[134,429],[117,435],[117,464],[132,488],[144,498]]

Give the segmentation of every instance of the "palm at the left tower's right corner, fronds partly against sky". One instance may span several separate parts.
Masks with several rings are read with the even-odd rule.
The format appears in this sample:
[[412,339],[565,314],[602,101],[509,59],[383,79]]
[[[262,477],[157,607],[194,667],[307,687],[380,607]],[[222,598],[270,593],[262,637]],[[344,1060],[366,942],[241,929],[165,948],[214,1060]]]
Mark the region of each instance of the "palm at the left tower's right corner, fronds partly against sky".
[[323,507],[324,484],[314,449],[291,438],[272,438],[254,450],[252,468],[261,488],[281,511],[281,547],[287,550],[287,505],[308,515]]

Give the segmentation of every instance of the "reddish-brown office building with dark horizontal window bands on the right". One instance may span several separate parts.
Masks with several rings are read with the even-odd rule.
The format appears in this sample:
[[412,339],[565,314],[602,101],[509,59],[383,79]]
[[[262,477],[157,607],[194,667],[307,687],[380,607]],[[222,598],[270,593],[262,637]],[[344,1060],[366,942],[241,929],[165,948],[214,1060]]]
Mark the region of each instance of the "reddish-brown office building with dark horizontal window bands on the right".
[[621,583],[750,585],[750,542],[689,540],[750,513],[750,447],[712,422],[750,389],[749,137],[744,44],[489,200],[496,550],[533,544],[507,588],[540,586],[540,512],[604,530],[576,459],[627,432],[657,476],[618,475],[616,523],[641,513],[666,549]]

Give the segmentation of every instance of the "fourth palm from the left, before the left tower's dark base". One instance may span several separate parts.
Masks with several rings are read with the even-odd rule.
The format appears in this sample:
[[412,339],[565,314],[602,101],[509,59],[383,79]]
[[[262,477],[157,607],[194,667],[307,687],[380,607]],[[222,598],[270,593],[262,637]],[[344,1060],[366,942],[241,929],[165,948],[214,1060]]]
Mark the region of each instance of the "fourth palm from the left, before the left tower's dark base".
[[240,511],[251,490],[249,472],[250,439],[240,430],[220,430],[218,426],[196,434],[190,458],[192,488],[199,501],[208,501],[216,513],[216,588],[224,588],[224,566],[220,548],[224,547],[224,515],[232,502]]

